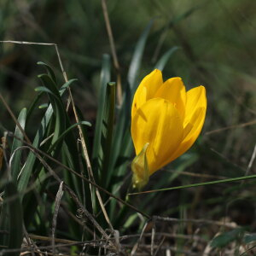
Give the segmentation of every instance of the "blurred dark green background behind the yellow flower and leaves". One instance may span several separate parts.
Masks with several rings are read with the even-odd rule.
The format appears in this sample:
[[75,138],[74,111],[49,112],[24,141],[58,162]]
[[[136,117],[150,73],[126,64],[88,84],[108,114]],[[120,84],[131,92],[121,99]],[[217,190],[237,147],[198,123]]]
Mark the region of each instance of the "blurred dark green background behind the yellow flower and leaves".
[[[197,146],[189,151],[194,150],[199,160],[186,171],[216,177],[244,175],[256,137],[256,2],[108,0],[107,4],[123,86],[137,40],[153,20],[140,79],[161,55],[177,46],[164,78],[180,76],[188,89],[199,84],[207,88],[206,124]],[[58,44],[68,78],[79,79],[73,87],[75,102],[94,124],[102,55],[111,54],[101,1],[1,0],[0,24],[1,40]],[[53,46],[0,45],[0,88],[16,114],[37,95],[37,61],[54,67],[64,83]],[[3,105],[0,109],[1,122],[13,130],[9,114]],[[228,128],[214,131],[224,127]],[[249,174],[255,172],[254,165]],[[189,183],[200,181],[205,177],[189,176]]]

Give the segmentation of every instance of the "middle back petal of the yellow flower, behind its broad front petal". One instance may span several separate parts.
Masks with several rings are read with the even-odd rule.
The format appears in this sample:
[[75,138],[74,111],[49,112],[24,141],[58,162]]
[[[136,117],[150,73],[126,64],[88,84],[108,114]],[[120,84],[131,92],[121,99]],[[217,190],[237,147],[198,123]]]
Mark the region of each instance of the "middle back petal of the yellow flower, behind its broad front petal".
[[166,82],[160,86],[160,89],[157,90],[155,97],[160,97],[174,103],[183,119],[187,94],[181,78],[166,80]]

